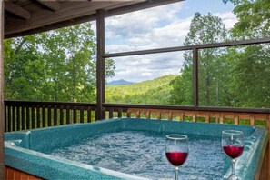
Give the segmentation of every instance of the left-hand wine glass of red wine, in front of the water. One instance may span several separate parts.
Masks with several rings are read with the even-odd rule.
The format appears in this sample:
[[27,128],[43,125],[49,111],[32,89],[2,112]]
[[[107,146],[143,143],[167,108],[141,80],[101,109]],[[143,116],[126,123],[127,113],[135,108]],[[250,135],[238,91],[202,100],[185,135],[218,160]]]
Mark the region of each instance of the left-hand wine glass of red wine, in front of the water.
[[188,139],[186,135],[166,135],[167,160],[175,166],[175,180],[178,179],[178,169],[185,163],[188,155]]

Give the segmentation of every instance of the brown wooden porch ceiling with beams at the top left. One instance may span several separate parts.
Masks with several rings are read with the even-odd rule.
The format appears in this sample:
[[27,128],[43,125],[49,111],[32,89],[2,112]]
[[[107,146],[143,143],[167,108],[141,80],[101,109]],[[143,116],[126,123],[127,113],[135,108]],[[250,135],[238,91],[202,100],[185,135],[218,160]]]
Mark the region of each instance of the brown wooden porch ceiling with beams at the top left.
[[98,9],[114,15],[179,0],[5,0],[5,38],[30,35],[95,19]]

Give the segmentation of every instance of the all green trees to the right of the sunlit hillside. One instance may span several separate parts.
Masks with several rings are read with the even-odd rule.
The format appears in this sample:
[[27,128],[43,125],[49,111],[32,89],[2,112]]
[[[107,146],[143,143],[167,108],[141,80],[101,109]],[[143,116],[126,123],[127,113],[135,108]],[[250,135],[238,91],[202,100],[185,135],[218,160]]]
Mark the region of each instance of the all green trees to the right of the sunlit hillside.
[[[196,13],[185,45],[224,42],[227,37],[239,40],[270,35],[269,0],[231,2],[238,23],[230,32],[218,17]],[[199,50],[199,105],[269,108],[269,49],[269,44],[262,44]],[[185,52],[181,75],[171,82],[173,105],[193,105],[192,63],[191,52]]]

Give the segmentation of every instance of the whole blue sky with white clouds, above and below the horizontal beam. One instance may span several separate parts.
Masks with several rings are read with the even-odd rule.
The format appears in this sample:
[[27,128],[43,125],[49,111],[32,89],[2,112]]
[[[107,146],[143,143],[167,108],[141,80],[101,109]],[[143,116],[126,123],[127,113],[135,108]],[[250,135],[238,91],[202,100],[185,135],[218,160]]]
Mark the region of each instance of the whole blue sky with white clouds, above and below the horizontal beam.
[[[211,13],[226,28],[235,25],[234,6],[222,0],[186,0],[169,5],[105,18],[105,52],[120,53],[161,47],[181,46],[195,12]],[[95,25],[94,25],[95,27]],[[115,57],[115,76],[107,82],[125,79],[142,82],[162,75],[177,75],[184,52]]]

